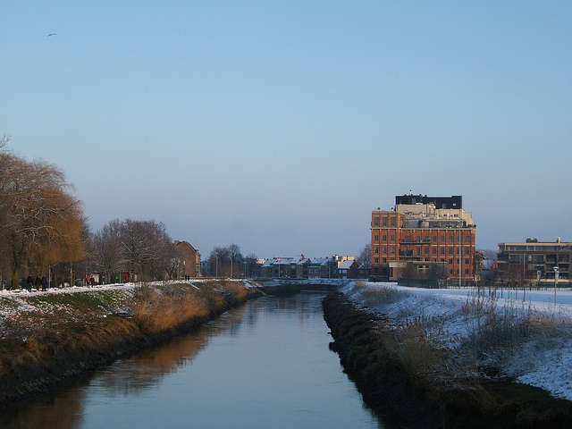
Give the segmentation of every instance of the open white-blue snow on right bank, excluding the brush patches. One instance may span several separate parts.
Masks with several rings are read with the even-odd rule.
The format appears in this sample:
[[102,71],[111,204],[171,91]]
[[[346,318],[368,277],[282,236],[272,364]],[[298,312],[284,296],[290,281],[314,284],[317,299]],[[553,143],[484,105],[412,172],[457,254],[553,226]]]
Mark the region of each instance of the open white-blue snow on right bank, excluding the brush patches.
[[[376,305],[371,294],[379,288],[390,288],[399,297],[389,304]],[[455,349],[471,336],[475,319],[467,319],[467,303],[477,299],[476,289],[420,289],[400,287],[395,283],[349,284],[341,291],[358,304],[389,315],[392,321],[425,317],[438,319],[446,332],[443,347]],[[481,290],[483,293],[483,290]],[[496,294],[496,295],[495,295]],[[483,297],[495,296],[495,299]],[[499,315],[517,315],[556,322],[556,329],[545,339],[527,341],[504,362],[505,374],[520,383],[550,391],[554,397],[572,400],[572,290],[559,289],[554,305],[554,290],[484,290],[480,302],[496,308]],[[465,306],[465,311],[463,309]],[[543,329],[543,328],[541,328]],[[551,329],[551,327],[547,328]],[[554,333],[556,332],[556,333]],[[484,362],[486,364],[486,362]]]

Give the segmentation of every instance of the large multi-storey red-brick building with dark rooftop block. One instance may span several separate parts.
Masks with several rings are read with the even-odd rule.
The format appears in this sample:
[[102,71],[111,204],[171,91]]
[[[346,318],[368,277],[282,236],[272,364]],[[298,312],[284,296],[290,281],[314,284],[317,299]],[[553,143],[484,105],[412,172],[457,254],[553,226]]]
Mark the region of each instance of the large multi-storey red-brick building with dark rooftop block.
[[461,196],[397,196],[372,212],[371,231],[374,280],[474,280],[476,225]]

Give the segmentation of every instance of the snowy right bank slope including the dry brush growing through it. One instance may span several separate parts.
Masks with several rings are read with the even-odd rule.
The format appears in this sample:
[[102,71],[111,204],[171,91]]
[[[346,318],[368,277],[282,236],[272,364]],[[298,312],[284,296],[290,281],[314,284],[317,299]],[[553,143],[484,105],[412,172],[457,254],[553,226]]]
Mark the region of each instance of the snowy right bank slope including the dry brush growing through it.
[[[352,282],[341,290],[396,329],[421,324],[439,348],[470,355],[473,368],[495,368],[572,400],[572,291],[428,290],[394,283]],[[388,298],[389,296],[389,298]],[[381,299],[383,297],[383,299]]]

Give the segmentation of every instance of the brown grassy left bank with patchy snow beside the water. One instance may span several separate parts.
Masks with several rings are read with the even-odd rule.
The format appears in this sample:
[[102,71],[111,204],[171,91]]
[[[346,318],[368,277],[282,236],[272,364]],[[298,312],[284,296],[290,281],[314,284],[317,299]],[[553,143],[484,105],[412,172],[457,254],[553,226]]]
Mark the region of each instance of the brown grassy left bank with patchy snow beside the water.
[[0,297],[0,407],[189,332],[259,292],[240,282]]

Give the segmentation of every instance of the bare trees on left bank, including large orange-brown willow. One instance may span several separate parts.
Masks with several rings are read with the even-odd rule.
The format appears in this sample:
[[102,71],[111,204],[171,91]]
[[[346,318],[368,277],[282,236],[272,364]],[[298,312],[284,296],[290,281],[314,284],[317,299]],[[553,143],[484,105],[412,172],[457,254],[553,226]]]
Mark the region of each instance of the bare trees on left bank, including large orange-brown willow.
[[129,280],[175,278],[181,255],[163,223],[114,220],[91,233],[82,203],[63,171],[27,161],[0,138],[0,280],[73,282],[88,273],[128,273]]

